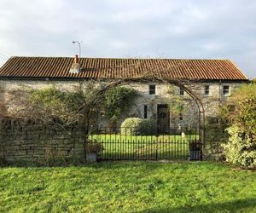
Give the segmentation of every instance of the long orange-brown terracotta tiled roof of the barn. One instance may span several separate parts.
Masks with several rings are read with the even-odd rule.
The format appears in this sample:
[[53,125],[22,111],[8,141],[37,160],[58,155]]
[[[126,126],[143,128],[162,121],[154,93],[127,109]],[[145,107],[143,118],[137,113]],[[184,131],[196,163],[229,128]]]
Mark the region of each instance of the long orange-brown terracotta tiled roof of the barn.
[[81,58],[80,73],[70,73],[73,58],[11,57],[1,68],[8,78],[165,78],[247,80],[230,60]]

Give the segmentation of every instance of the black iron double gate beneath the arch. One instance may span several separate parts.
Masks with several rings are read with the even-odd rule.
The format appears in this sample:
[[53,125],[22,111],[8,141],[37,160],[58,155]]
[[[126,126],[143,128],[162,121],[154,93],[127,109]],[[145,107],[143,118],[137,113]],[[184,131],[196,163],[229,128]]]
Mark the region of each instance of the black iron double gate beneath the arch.
[[[90,132],[97,160],[186,160],[201,158],[198,128],[166,128],[165,134],[143,135],[131,128],[100,128]],[[90,152],[90,151],[87,151]]]

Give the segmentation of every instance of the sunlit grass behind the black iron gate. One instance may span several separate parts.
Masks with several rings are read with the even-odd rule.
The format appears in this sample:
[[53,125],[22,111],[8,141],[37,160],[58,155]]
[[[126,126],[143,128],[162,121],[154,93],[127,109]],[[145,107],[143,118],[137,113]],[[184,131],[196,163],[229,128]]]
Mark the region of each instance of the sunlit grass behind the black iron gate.
[[100,141],[104,150],[102,159],[187,159],[189,141],[199,135],[90,135]]

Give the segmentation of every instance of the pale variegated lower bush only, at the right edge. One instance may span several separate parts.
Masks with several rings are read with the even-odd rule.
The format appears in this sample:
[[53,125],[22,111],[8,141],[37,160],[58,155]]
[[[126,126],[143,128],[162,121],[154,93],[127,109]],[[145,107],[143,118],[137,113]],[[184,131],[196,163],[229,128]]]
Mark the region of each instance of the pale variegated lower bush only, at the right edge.
[[256,138],[241,132],[241,128],[236,124],[227,130],[230,139],[223,145],[226,161],[247,168],[256,167]]

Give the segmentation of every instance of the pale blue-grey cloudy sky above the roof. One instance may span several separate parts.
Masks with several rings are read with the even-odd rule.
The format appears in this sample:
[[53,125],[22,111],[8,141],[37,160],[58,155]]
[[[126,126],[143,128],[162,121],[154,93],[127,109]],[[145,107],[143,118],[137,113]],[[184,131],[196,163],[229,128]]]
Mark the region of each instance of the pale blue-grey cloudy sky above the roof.
[[256,76],[255,0],[0,0],[11,55],[230,59]]

